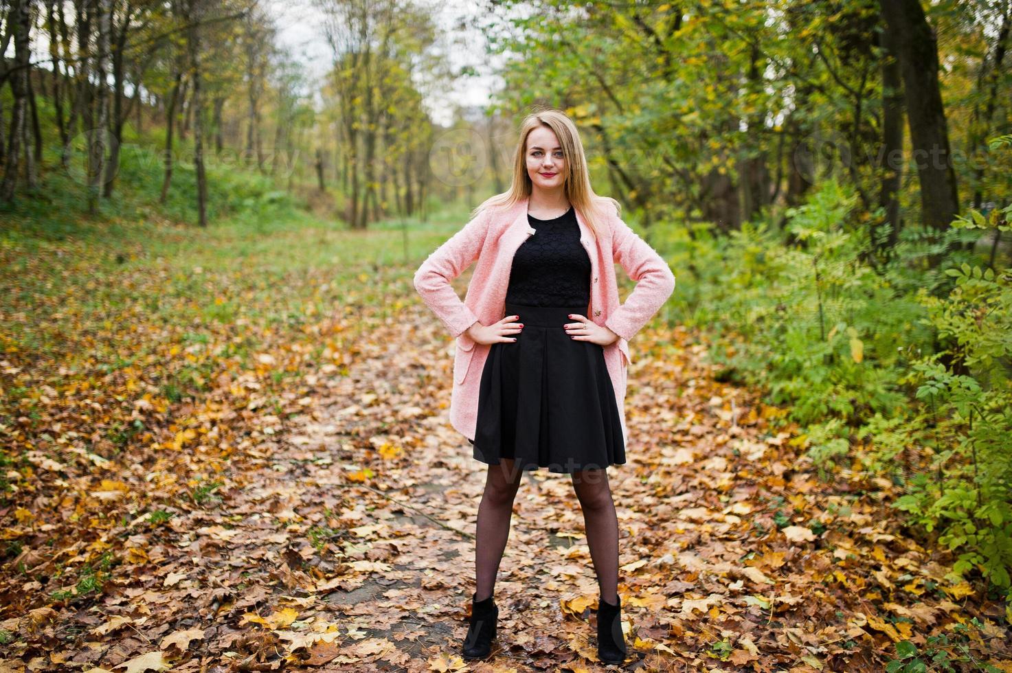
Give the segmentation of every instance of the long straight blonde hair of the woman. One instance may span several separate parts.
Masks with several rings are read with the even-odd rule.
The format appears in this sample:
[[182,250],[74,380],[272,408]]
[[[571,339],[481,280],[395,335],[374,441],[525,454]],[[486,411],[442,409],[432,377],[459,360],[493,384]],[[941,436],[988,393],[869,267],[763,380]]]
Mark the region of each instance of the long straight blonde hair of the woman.
[[583,152],[583,144],[580,142],[580,132],[576,124],[565,112],[559,109],[546,109],[531,112],[523,118],[520,124],[520,138],[516,146],[516,153],[513,159],[513,181],[510,188],[501,194],[495,194],[485,199],[471,214],[474,219],[479,213],[487,207],[509,208],[515,203],[530,196],[532,184],[530,176],[527,174],[527,136],[538,127],[547,127],[556,134],[559,145],[562,148],[563,156],[566,158],[566,175],[563,179],[563,188],[566,190],[566,197],[576,211],[579,211],[590,228],[593,236],[597,237],[603,230],[604,218],[609,203],[615,209],[615,214],[621,216],[621,205],[610,196],[598,196],[590,186],[590,172],[587,170],[587,157]]

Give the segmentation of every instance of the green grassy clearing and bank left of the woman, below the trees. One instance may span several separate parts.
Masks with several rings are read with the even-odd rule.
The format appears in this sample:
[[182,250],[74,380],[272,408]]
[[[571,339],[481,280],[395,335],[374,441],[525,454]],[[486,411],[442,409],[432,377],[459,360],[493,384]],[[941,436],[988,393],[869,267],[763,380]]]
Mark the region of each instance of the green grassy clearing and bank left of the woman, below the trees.
[[[159,206],[161,173],[152,161],[137,163],[138,154],[124,154],[116,191],[98,218],[86,213],[83,185],[59,169],[47,173],[44,192],[22,195],[2,214],[3,345],[62,357],[75,344],[75,353],[96,356],[109,369],[150,352],[82,342],[138,322],[178,326],[178,343],[208,345],[213,337],[201,330],[207,325],[297,329],[307,315],[342,301],[382,307],[413,293],[409,271],[467,218],[456,208],[426,224],[409,219],[405,245],[400,219],[349,231],[303,211],[269,178],[213,168],[214,220],[201,229],[191,224],[192,173],[177,170],[170,198]],[[243,355],[248,346],[233,343],[230,350]]]

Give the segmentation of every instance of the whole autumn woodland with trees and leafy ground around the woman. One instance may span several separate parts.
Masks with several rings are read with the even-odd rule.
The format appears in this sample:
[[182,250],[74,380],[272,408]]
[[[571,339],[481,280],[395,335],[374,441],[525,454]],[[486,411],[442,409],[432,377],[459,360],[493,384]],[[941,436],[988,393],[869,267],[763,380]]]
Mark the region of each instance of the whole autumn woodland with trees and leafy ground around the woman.
[[[677,278],[616,487],[641,667],[1012,670],[1008,0],[476,4],[501,85],[448,124],[433,5],[313,7],[319,80],[257,2],[3,5],[0,666],[465,670],[481,473],[410,278],[553,106]],[[531,484],[511,545],[589,573]],[[565,585],[514,670],[592,666]]]

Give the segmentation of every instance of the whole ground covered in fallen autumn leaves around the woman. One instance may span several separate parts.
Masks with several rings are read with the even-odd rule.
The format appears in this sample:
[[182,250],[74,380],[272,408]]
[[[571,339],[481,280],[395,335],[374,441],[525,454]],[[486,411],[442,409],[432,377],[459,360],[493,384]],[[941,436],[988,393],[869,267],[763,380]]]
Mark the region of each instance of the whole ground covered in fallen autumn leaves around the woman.
[[[6,278],[0,670],[601,668],[582,515],[544,470],[517,495],[500,647],[457,656],[485,466],[448,425],[452,342],[415,264],[377,263],[395,234],[314,233],[326,259],[273,278],[256,250],[92,277],[66,242],[66,292],[52,266]],[[892,484],[820,480],[704,337],[631,347],[609,469],[626,668],[1012,671],[1005,607],[945,582]]]

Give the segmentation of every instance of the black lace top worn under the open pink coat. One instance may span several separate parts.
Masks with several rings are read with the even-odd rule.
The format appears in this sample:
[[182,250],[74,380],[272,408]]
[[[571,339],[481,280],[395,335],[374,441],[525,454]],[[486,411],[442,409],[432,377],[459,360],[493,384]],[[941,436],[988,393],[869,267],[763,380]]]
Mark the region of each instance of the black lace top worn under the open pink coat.
[[590,257],[580,243],[573,206],[553,220],[527,216],[537,231],[513,256],[506,302],[524,306],[586,307],[590,304]]

